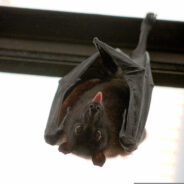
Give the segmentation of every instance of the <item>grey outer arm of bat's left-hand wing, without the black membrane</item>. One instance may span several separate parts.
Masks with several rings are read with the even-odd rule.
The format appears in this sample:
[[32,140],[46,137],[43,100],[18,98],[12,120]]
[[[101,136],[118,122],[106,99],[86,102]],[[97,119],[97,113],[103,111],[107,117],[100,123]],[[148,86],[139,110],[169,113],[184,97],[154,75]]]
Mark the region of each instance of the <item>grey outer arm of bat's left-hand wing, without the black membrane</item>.
[[69,72],[59,81],[59,86],[52,103],[49,119],[45,129],[44,136],[47,143],[54,145],[60,139],[64,126],[64,120],[69,114],[68,109],[65,117],[61,122],[60,114],[63,101],[70,93],[70,91],[80,82],[81,76],[85,74],[87,69],[94,63],[97,57],[98,53],[95,53],[87,60],[83,61],[81,64],[75,67],[71,72]]

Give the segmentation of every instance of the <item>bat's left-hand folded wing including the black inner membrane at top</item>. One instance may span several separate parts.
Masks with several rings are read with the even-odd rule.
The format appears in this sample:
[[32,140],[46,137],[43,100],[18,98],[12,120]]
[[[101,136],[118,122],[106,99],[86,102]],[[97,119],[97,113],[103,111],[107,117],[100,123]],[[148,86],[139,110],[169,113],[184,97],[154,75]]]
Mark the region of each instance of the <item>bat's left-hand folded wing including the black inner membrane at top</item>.
[[110,78],[115,73],[116,65],[111,61],[108,62],[108,59],[103,62],[99,60],[99,57],[100,54],[95,53],[60,80],[45,129],[44,137],[47,143],[55,145],[61,139],[65,119],[70,114],[70,107],[62,118],[61,108],[71,91],[86,80],[94,78],[103,80]]

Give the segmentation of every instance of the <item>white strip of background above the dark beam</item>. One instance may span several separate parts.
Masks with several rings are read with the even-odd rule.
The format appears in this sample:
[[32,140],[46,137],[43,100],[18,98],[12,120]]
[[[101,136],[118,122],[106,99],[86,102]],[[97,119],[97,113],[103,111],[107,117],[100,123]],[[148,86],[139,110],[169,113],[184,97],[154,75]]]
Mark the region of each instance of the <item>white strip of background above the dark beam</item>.
[[0,0],[0,4],[128,17],[144,17],[147,12],[154,12],[158,19],[184,21],[183,0]]

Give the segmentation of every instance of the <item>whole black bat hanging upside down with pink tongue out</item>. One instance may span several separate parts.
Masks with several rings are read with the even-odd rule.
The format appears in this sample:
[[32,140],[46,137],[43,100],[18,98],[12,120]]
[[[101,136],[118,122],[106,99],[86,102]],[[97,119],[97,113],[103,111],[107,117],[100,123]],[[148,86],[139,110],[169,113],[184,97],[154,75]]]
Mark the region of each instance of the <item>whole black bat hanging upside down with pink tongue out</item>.
[[108,153],[137,149],[145,137],[154,85],[146,42],[155,20],[147,14],[131,56],[94,38],[98,52],[59,81],[45,130],[47,143],[58,144],[65,154],[91,156],[99,166]]

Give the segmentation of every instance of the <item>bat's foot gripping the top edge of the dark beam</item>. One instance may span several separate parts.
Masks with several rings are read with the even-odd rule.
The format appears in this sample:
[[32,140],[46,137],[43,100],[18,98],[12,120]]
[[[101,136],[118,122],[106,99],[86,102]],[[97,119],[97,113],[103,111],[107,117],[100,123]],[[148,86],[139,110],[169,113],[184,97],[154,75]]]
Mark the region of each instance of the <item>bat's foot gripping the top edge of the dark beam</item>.
[[155,22],[156,22],[156,14],[147,13],[146,18],[143,20],[141,29],[150,30]]

